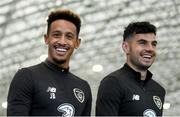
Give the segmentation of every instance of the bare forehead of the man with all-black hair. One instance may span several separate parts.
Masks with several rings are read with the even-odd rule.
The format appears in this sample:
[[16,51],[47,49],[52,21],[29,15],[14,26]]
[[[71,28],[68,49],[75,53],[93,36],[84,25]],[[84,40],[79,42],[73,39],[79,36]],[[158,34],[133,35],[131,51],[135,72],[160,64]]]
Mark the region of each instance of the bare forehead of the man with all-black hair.
[[146,41],[155,41],[156,35],[154,33],[145,33],[145,34],[135,34],[132,40],[146,40]]

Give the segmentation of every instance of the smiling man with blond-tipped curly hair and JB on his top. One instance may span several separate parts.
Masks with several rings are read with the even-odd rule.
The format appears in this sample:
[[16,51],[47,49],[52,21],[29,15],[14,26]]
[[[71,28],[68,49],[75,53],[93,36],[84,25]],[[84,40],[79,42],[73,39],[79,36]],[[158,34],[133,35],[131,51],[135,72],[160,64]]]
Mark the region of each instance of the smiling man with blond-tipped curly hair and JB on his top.
[[90,116],[92,95],[89,84],[69,72],[74,49],[80,45],[79,15],[67,9],[49,14],[48,58],[20,69],[8,94],[8,116]]

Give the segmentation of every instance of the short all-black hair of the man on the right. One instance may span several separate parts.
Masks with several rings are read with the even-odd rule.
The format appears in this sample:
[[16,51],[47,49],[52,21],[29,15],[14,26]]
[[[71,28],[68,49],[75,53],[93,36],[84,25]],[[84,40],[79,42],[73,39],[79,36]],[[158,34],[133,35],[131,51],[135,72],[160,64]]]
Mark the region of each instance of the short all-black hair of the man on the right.
[[147,21],[132,22],[124,30],[123,41],[131,38],[134,34],[154,33],[156,35],[157,28]]

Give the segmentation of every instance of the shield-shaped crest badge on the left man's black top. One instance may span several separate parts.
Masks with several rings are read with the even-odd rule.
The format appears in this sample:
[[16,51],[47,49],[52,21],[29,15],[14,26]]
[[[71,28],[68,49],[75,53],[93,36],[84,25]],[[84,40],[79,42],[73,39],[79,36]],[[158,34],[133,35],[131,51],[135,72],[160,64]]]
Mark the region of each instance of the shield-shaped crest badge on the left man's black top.
[[73,89],[74,95],[77,98],[77,100],[81,103],[84,102],[84,92],[81,89],[74,88]]

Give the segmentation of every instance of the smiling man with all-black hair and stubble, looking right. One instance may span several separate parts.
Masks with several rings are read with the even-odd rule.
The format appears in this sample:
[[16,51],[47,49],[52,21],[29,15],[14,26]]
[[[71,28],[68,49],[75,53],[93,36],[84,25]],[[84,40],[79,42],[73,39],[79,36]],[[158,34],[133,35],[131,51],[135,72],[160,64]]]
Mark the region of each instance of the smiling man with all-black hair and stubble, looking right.
[[106,76],[99,86],[97,116],[161,116],[165,90],[148,70],[156,57],[156,27],[133,22],[124,30],[124,66]]

